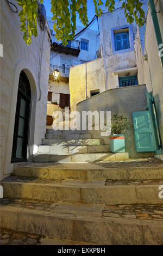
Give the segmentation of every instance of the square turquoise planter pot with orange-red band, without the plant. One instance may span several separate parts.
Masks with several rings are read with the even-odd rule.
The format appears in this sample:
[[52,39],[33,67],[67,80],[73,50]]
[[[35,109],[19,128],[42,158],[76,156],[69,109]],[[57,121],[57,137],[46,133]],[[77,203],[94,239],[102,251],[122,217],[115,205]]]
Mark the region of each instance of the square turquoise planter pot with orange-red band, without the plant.
[[114,134],[110,136],[110,150],[112,153],[124,153],[124,134]]

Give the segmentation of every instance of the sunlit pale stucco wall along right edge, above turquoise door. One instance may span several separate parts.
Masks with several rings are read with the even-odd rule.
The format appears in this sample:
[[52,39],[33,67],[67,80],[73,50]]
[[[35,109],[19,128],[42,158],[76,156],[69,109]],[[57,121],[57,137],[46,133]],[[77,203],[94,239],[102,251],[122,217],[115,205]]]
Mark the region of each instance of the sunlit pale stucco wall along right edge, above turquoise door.
[[[159,0],[155,1],[155,3],[160,31],[163,38],[163,1]],[[156,42],[150,9],[148,9],[146,24],[145,53],[147,53],[148,59],[145,60],[144,63],[145,83],[147,84],[148,91],[153,91],[161,140],[163,143],[163,70],[161,68],[161,61],[158,54],[159,49]]]

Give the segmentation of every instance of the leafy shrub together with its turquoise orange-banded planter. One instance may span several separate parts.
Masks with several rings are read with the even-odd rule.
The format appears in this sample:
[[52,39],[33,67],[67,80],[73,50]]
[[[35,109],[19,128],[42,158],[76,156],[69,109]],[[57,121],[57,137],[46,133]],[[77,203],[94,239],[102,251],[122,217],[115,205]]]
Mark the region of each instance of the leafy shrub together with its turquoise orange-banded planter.
[[110,150],[112,153],[125,152],[125,139],[123,132],[129,130],[131,125],[127,118],[123,115],[118,117],[118,114],[113,115],[111,119],[111,136],[110,136]]

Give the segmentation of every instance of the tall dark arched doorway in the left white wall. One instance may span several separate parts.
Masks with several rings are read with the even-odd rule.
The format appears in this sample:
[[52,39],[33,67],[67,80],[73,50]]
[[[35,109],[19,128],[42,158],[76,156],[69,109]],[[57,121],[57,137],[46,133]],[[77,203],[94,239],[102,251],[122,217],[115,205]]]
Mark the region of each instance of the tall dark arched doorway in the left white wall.
[[27,75],[21,71],[18,82],[11,162],[27,161],[31,90]]

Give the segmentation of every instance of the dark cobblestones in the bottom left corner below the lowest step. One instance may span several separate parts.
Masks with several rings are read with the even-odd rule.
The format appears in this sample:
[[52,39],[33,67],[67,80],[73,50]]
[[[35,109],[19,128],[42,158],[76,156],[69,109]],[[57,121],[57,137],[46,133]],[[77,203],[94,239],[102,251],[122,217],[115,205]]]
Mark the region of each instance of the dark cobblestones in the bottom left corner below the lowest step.
[[40,239],[45,236],[1,228],[0,237],[0,245],[41,245]]

